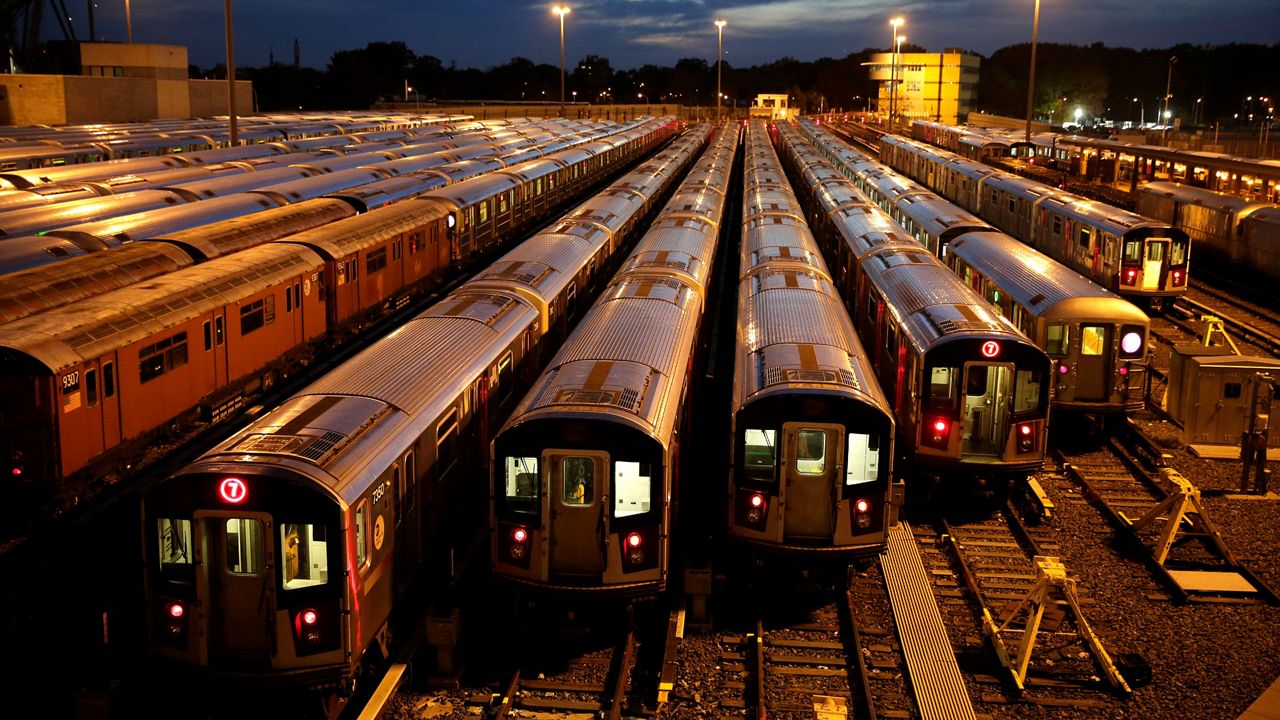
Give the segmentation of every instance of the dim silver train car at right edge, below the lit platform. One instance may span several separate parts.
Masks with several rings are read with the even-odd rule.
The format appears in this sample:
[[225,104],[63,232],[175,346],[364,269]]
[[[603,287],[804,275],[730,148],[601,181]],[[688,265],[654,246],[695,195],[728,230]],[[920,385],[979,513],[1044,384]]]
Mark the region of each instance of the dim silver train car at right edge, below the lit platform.
[[1176,182],[1148,182],[1138,188],[1135,197],[1139,215],[1185,232],[1197,252],[1280,278],[1280,263],[1274,254],[1270,258],[1258,254],[1257,243],[1245,240],[1243,227],[1245,218],[1275,205]]

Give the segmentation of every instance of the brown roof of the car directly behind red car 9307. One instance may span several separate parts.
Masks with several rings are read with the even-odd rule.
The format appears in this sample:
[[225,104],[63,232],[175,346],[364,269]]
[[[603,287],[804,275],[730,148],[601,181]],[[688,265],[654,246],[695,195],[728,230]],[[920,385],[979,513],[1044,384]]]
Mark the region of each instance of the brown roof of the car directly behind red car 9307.
[[[0,242],[0,256],[10,245],[18,251],[23,247],[23,241],[29,240],[36,238],[12,238]],[[40,247],[63,249],[59,252],[60,258],[49,260],[61,261],[58,268],[42,266],[45,263],[41,263],[22,272],[18,272],[18,263],[14,263],[13,272],[0,275],[0,324],[172,273],[195,263],[180,249],[166,243],[133,243],[86,254],[65,238],[38,240],[45,241],[35,243]]]

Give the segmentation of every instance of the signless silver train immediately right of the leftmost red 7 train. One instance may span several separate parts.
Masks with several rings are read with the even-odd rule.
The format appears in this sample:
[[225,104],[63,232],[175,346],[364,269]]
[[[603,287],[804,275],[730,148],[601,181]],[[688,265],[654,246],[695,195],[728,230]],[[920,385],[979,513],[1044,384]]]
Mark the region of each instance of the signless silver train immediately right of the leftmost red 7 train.
[[[694,356],[740,127],[663,208],[497,432],[492,577],[532,593],[667,587]],[[701,448],[703,451],[705,448]]]

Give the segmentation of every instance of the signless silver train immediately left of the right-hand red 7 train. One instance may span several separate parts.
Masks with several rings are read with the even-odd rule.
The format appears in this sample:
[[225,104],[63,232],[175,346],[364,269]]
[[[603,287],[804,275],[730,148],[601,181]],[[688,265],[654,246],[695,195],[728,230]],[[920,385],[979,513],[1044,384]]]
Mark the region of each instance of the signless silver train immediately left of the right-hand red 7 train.
[[902,493],[892,410],[760,122],[744,170],[728,536],[873,557]]

